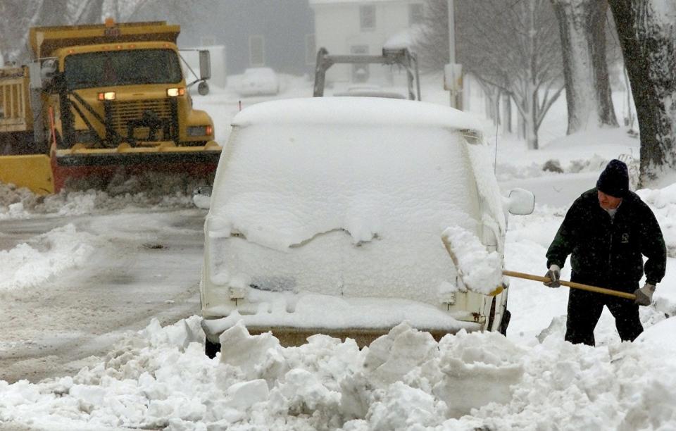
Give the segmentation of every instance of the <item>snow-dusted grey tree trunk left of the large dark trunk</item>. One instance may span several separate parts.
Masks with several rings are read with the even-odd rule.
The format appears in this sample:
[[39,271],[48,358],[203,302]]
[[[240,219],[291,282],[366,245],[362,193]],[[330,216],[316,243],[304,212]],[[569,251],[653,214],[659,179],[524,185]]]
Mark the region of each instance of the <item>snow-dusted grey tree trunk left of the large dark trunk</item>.
[[568,135],[618,127],[606,64],[605,0],[551,0],[558,19],[568,104]]

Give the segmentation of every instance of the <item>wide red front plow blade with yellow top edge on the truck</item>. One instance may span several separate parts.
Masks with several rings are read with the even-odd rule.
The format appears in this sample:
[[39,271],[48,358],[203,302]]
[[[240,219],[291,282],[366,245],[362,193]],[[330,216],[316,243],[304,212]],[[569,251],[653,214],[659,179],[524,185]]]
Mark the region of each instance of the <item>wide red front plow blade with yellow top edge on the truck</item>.
[[113,149],[88,149],[76,144],[52,153],[54,191],[101,188],[119,175],[161,173],[206,179],[215,173],[221,149],[213,141],[204,146],[176,146],[173,142],[159,142],[155,146],[123,143]]

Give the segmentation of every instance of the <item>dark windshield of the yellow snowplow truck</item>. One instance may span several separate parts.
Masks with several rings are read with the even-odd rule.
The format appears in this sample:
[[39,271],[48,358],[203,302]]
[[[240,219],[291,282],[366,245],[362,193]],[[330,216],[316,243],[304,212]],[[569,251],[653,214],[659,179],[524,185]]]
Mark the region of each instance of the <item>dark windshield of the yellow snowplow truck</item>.
[[171,49],[134,49],[73,54],[65,58],[69,89],[134,84],[172,84],[182,80]]

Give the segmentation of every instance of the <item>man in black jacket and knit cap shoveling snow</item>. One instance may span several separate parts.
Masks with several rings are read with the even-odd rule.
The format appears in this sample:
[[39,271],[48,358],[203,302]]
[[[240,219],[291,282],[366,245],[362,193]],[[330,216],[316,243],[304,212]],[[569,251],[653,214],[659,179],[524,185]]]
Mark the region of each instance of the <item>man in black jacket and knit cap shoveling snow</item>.
[[[612,160],[596,187],[573,202],[547,250],[549,287],[561,285],[559,277],[570,256],[571,280],[587,285],[633,292],[634,302],[571,289],[565,340],[594,346],[594,327],[607,306],[615,318],[622,341],[633,341],[643,332],[639,305],[650,305],[655,286],[666,268],[666,248],[655,215],[629,190],[627,165]],[[639,289],[644,273],[646,283]]]

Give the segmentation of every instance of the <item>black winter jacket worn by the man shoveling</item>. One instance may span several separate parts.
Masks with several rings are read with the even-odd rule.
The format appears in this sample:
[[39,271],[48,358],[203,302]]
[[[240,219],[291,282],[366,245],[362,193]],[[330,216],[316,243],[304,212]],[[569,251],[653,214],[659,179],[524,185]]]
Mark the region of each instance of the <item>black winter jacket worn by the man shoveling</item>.
[[599,205],[596,188],[573,202],[547,250],[547,268],[563,268],[570,256],[577,280],[601,286],[636,284],[643,276],[656,285],[664,277],[666,249],[662,230],[650,208],[633,192],[611,216]]

